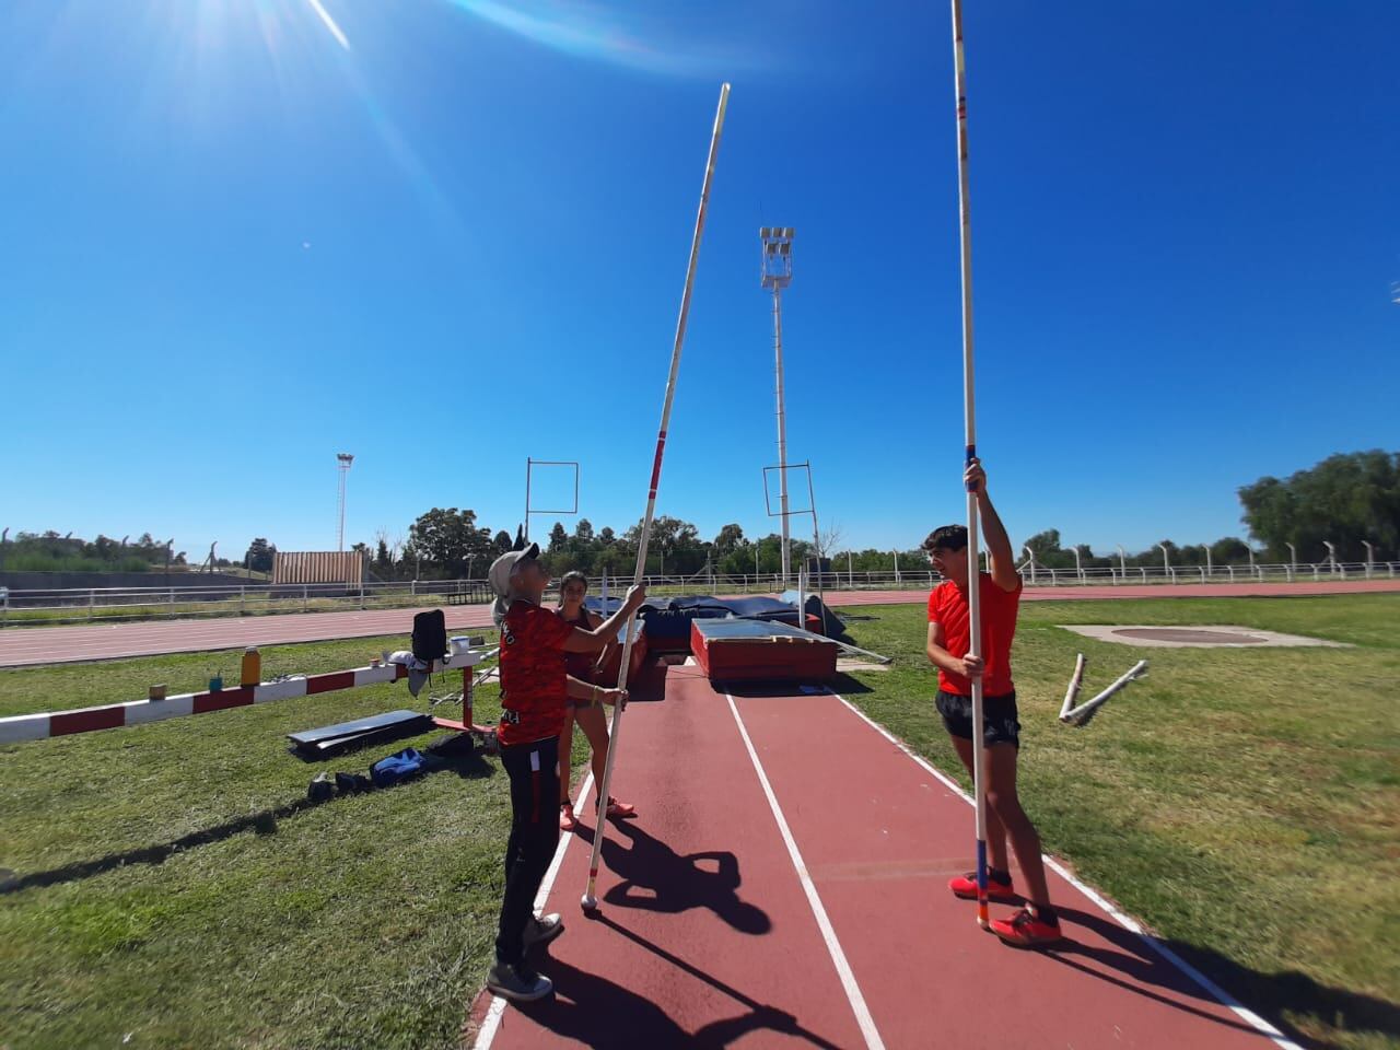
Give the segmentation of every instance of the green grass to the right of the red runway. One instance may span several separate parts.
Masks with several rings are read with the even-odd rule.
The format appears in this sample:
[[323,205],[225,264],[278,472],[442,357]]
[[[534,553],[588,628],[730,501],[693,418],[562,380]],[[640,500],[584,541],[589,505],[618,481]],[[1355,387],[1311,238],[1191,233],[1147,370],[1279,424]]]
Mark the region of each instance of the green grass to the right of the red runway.
[[[962,774],[921,608],[865,608],[896,654],[850,700]],[[1140,650],[1060,623],[1217,623],[1355,648]],[[1057,721],[1135,659],[1084,729]],[[1400,1046],[1400,595],[1026,602],[1015,643],[1021,788],[1049,851],[1247,1005],[1327,1046]]]

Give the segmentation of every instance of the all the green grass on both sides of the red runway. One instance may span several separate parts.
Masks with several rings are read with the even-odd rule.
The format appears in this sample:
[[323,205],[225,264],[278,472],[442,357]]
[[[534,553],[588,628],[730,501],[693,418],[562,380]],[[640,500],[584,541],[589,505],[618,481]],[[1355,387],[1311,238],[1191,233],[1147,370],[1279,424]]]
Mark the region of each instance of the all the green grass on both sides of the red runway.
[[[855,640],[896,661],[850,699],[953,771],[921,610],[853,612]],[[1354,648],[1144,651],[1054,626],[1095,622]],[[263,671],[402,644],[277,647]],[[1085,696],[1138,655],[1151,676],[1063,728],[1075,651]],[[231,682],[239,655],[0,671],[0,715]],[[1015,664],[1047,848],[1271,1018],[1329,1046],[1400,1046],[1400,596],[1030,602]],[[0,748],[0,865],[20,882],[0,892],[0,1047],[456,1046],[490,958],[505,778],[463,764],[308,806],[319,769],[363,771],[389,748],[307,766],[283,739],[399,706],[423,697],[372,686]],[[477,717],[493,713],[487,687]]]

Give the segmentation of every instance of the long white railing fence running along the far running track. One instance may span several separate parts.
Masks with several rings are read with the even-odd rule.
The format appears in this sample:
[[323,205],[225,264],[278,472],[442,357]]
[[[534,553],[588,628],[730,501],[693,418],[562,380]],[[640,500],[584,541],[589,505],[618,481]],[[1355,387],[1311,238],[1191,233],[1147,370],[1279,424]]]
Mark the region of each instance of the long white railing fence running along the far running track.
[[[1030,587],[1159,584],[1288,584],[1326,580],[1396,580],[1400,561],[1256,564],[1256,566],[1098,566],[1047,568],[1026,564],[1021,575]],[[612,584],[619,594],[627,581]],[[783,589],[776,574],[647,577],[655,595],[773,594]],[[811,577],[809,589],[826,591],[924,591],[937,582],[928,568],[917,571],[822,573]],[[619,585],[620,584],[620,585]],[[594,582],[594,592],[599,589]],[[484,580],[416,580],[403,582],[344,584],[248,584],[245,587],[137,587],[78,589],[0,588],[0,626],[73,623],[84,620],[147,620],[192,616],[263,616],[346,609],[396,609],[423,605],[475,605],[491,599]]]

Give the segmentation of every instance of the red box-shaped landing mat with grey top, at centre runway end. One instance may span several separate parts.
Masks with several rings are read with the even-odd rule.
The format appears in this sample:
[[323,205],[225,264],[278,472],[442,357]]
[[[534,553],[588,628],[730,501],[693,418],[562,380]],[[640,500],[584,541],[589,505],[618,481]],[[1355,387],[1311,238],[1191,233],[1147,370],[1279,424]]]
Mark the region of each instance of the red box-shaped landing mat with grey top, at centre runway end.
[[830,682],[836,643],[785,623],[694,620],[690,651],[711,682]]

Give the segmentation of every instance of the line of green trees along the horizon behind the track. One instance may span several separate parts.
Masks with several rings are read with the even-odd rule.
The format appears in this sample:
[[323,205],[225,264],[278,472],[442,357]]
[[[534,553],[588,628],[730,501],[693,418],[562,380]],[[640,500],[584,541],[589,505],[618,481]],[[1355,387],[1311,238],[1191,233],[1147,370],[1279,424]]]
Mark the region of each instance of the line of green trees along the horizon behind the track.
[[[1210,563],[1215,566],[1245,566],[1250,553],[1260,561],[1320,563],[1327,559],[1331,543],[1340,561],[1364,561],[1366,543],[1372,545],[1376,560],[1400,557],[1400,452],[1368,451],[1329,456],[1306,470],[1285,479],[1260,477],[1238,490],[1242,521],[1253,545],[1240,536],[1222,536],[1210,545],[1179,545],[1163,539],[1145,550],[1092,550],[1088,545],[1065,547],[1058,529],[1044,529],[1025,542],[1035,552],[1037,566],[1046,568],[1074,568],[1075,550],[1085,568],[1103,568],[1120,563],[1130,567],[1159,567],[1162,550],[1173,566],[1204,566],[1207,547]],[[375,543],[356,543],[370,561],[370,570],[381,580],[455,580],[484,578],[486,570],[498,554],[518,540],[505,529],[482,525],[476,511],[456,507],[434,507],[409,526],[407,536],[398,539],[379,531]],[[581,570],[589,575],[606,571],[613,577],[630,575],[637,563],[641,522],[617,533],[605,526],[595,529],[588,518],[580,518],[573,532],[563,522],[554,522],[549,533],[536,536],[546,567],[561,575]],[[7,543],[0,543],[0,570],[28,571],[155,571],[168,564],[185,567],[183,550],[171,543],[157,542],[143,533],[134,543],[99,535],[88,542],[71,533],[20,532]],[[918,550],[921,536],[904,550],[851,550],[841,546],[840,529],[811,539],[792,538],[791,566],[801,564],[834,573],[924,571],[927,559]],[[777,533],[749,538],[736,522],[703,539],[700,529],[680,518],[661,515],[652,522],[647,573],[669,577],[692,577],[714,573],[718,575],[771,575],[781,570],[781,539]],[[249,543],[241,559],[217,559],[214,566],[245,566],[253,571],[270,573],[276,543],[259,536]],[[1016,552],[1023,561],[1023,550]]]

